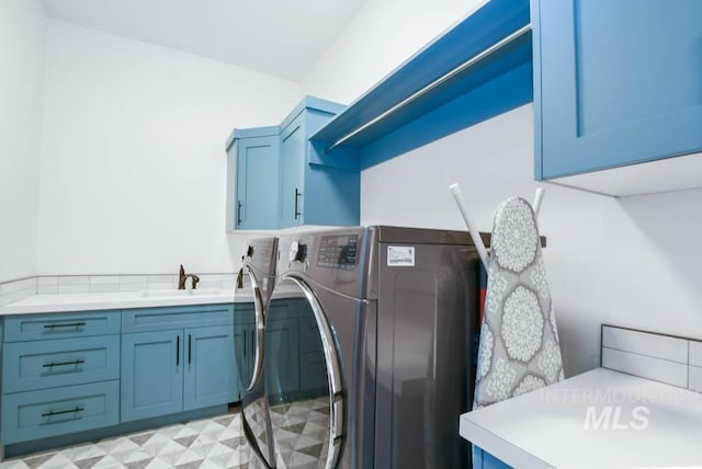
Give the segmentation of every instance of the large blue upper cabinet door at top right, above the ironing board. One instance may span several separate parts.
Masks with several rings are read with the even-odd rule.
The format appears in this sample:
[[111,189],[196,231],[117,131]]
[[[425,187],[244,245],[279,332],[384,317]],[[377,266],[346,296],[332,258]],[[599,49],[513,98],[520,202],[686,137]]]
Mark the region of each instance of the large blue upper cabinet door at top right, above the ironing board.
[[533,0],[535,178],[702,149],[702,2]]

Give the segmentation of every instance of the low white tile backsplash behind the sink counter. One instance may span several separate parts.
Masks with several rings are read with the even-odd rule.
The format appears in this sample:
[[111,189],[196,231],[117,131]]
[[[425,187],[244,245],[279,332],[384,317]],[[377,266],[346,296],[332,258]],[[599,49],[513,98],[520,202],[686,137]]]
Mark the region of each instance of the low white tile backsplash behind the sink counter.
[[[234,289],[237,274],[197,274],[197,288]],[[185,286],[190,288],[191,281]],[[52,275],[0,283],[0,306],[32,295],[112,293],[173,289],[178,275]]]

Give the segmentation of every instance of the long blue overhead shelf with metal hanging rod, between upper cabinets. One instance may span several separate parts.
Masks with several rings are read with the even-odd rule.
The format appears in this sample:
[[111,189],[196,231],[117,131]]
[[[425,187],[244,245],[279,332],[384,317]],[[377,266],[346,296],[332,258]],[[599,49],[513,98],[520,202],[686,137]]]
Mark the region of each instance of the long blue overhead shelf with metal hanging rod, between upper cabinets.
[[[317,147],[328,144],[328,148],[529,21],[529,0],[489,1],[411,57],[312,139],[322,142]],[[531,34],[524,34],[354,135],[328,156],[343,158],[341,148],[358,149],[360,165],[365,169],[525,104],[533,99],[531,61]]]

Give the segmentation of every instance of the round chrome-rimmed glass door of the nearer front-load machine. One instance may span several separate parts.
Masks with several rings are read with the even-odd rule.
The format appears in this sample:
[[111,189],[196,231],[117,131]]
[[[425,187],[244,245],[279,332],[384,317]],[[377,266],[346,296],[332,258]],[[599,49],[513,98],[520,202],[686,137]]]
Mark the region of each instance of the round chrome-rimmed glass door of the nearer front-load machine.
[[344,424],[337,345],[316,296],[295,277],[273,290],[264,358],[276,466],[335,468]]

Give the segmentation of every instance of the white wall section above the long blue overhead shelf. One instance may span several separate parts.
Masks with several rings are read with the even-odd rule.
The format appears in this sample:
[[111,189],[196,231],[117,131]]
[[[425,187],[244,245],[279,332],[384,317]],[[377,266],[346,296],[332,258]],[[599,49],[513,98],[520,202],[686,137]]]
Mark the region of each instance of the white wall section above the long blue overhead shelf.
[[349,104],[483,0],[366,0],[303,80]]

